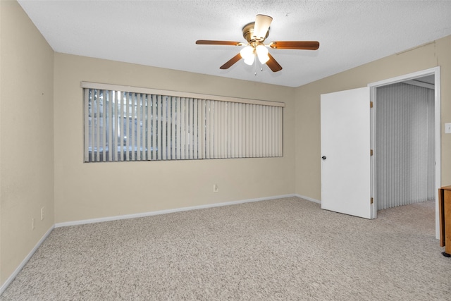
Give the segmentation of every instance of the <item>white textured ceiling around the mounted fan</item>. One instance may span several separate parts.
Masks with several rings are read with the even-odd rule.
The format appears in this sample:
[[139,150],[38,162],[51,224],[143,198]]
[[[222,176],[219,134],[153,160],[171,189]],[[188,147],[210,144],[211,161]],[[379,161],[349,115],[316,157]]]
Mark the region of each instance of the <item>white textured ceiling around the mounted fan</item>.
[[[451,35],[451,1],[25,1],[54,51],[298,87]],[[283,70],[219,66],[245,42],[242,27],[273,17],[266,42],[317,40],[319,50],[270,49]],[[254,75],[257,70],[257,75]]]

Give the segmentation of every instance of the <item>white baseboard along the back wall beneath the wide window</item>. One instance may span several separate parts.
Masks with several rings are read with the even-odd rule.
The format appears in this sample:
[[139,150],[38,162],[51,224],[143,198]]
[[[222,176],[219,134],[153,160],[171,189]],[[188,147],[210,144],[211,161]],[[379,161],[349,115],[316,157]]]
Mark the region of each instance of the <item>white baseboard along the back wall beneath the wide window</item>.
[[217,203],[217,204],[206,204],[206,205],[182,207],[182,208],[159,210],[159,211],[150,211],[150,212],[143,212],[143,213],[137,213],[137,214],[107,216],[107,217],[102,217],[99,219],[84,219],[82,221],[67,221],[64,223],[55,223],[55,228],[66,227],[66,226],[78,226],[78,225],[84,225],[86,223],[101,223],[103,221],[118,221],[120,219],[135,219],[137,217],[154,216],[154,215],[159,215],[159,214],[168,214],[168,213],[189,211],[189,210],[196,210],[196,209],[206,209],[206,208],[221,207],[221,206],[228,206],[228,205],[234,205],[234,204],[244,204],[244,203],[249,203],[249,202],[259,202],[259,201],[266,201],[269,199],[282,199],[284,197],[295,197],[295,196],[297,196],[297,195],[277,195],[277,196],[273,196],[273,197],[260,197],[257,199],[242,199],[240,201],[223,202],[223,203]]

